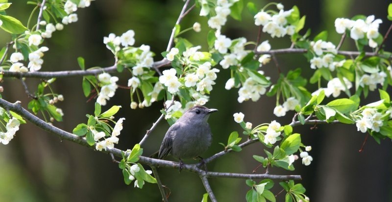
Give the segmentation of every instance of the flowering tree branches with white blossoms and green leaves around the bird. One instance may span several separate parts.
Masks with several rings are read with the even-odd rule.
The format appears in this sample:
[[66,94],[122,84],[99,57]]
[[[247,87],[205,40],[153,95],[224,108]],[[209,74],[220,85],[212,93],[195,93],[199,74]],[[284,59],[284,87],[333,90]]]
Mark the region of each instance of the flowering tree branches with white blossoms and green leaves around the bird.
[[[0,0],[0,27],[12,36],[12,41],[0,50],[1,79],[19,78],[26,94],[31,98],[27,104],[28,110],[20,102],[10,103],[0,99],[2,144],[8,144],[17,134],[20,124],[28,121],[62,139],[109,154],[113,161],[119,163],[126,184],[132,182],[135,187],[143,188],[145,182],[157,183],[162,200],[168,201],[157,167],[178,169],[180,164],[143,156],[143,144],[163,119],[172,125],[194,105],[205,105],[209,101],[218,72],[231,75],[225,89],[238,89],[239,103],[257,101],[262,95],[276,96],[273,114],[285,116],[286,112],[295,111],[295,115],[291,123],[283,124],[272,120],[254,126],[244,121],[244,113],[235,113],[234,121],[242,128],[245,140],[239,137],[238,132],[232,132],[228,135],[227,144],[221,143],[223,150],[204,159],[204,163],[208,164],[231,152],[241,152],[242,148],[257,143],[265,148],[265,155],[254,155],[253,158],[260,162],[260,167],[266,168],[266,172],[254,174],[257,172],[255,169],[252,174],[223,173],[207,171],[201,164],[186,164],[183,169],[196,173],[206,189],[203,201],[207,201],[208,197],[211,201],[217,201],[209,184],[209,179],[213,178],[246,179],[245,183],[250,188],[244,197],[249,202],[275,202],[276,196],[270,189],[276,186],[276,181],[279,182],[277,186],[283,188],[282,192],[286,192],[286,202],[309,201],[304,194],[305,188],[296,181],[301,179],[300,176],[269,174],[272,167],[294,171],[293,163],[299,158],[304,166],[311,164],[313,157],[309,152],[312,147],[301,141],[300,134],[294,133],[295,126],[355,124],[358,131],[367,133],[378,143],[381,139],[392,138],[391,99],[385,91],[392,85],[392,53],[383,49],[392,26],[383,36],[378,30],[382,21],[374,15],[336,19],[336,32],[342,34],[342,39],[335,45],[327,41],[326,31],[310,39],[310,30],[302,31],[306,18],[300,15],[296,6],[285,9],[280,3],[268,3],[263,8],[257,8],[254,3],[248,2],[247,11],[243,11],[243,0],[186,0],[172,29],[167,49],[161,52],[160,61],[154,61],[155,54],[149,45],[134,46],[135,32],[130,29],[120,36],[111,33],[103,37],[103,44],[115,58],[111,67],[86,68],[84,59],[79,57],[77,61],[81,70],[41,71],[41,68],[45,69],[44,53],[49,51],[49,47],[44,46],[45,41],[52,37],[54,31],[62,30],[64,25],[77,22],[75,12],[79,8],[90,6],[91,1],[29,1],[29,4],[35,6],[31,16],[38,12],[38,18],[32,19],[30,16],[24,25],[6,14],[6,9],[12,3]],[[193,9],[200,16],[208,18],[208,47],[193,45],[180,37],[186,31],[199,32],[201,29],[198,22],[187,29],[180,26],[182,19]],[[247,41],[244,37],[230,39],[221,32],[221,27],[229,16],[240,21],[242,12],[250,12],[254,16],[255,26],[259,27],[259,32],[255,33],[255,42]],[[388,19],[392,20],[392,4],[388,8]],[[267,40],[262,41],[262,33],[269,35],[265,37]],[[287,37],[292,44],[285,49],[271,49],[269,37]],[[357,50],[340,50],[346,38],[354,40]],[[368,49],[371,51],[366,51]],[[319,90],[308,90],[310,85],[301,76],[301,68],[288,72],[280,70],[275,55],[297,53],[302,53],[309,62],[309,67],[303,68],[315,69],[308,80],[310,85],[317,85]],[[279,71],[276,81],[260,70],[271,60]],[[139,144],[120,150],[115,144],[120,140],[118,136],[125,118],[114,116],[121,106],[109,106],[104,112],[102,108],[106,108],[107,100],[114,97],[119,88],[119,78],[111,74],[125,72],[130,75],[127,89],[130,91],[131,109],[164,102],[162,115]],[[72,133],[52,124],[63,119],[64,113],[56,103],[64,101],[64,96],[50,88],[53,82],[70,76],[79,76],[84,95],[96,102],[94,112],[87,115],[84,123],[76,125]],[[34,93],[30,93],[25,84],[25,79],[30,77],[43,79]],[[321,85],[322,81],[327,81],[326,87]],[[360,104],[361,97],[366,98],[368,92],[374,90],[379,91],[380,100],[373,103],[363,101]],[[0,91],[3,91],[2,87]],[[334,100],[326,103],[325,97],[333,97]],[[37,116],[38,113],[42,114],[42,118]],[[144,166],[149,166],[152,171]],[[256,179],[261,181],[255,181]]]

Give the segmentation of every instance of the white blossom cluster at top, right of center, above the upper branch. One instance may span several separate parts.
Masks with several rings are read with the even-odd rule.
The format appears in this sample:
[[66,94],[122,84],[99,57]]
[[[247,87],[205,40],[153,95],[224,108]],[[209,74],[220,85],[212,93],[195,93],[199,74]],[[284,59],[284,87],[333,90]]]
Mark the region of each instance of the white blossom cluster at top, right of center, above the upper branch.
[[290,9],[288,11],[283,10],[283,5],[279,4],[279,13],[270,15],[268,12],[262,10],[254,16],[254,24],[257,26],[263,26],[263,32],[267,32],[274,37],[284,37],[286,35],[293,35],[295,33],[295,26],[291,25],[287,21],[287,17],[294,11]]

